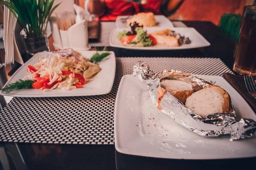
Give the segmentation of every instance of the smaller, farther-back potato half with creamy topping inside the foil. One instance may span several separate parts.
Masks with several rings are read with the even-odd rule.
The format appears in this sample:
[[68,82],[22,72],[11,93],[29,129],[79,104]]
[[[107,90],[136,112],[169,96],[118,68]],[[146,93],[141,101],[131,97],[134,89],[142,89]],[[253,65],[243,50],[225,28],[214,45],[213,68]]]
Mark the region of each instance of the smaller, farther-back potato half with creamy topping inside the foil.
[[183,104],[185,104],[186,99],[194,92],[191,84],[180,80],[163,79],[160,82],[160,86],[179,99]]

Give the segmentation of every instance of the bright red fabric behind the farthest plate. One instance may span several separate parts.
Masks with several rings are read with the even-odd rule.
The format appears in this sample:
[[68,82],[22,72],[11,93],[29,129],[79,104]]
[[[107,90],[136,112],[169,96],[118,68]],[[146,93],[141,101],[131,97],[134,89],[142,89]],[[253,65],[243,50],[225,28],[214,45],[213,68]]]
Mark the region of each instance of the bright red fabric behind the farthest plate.
[[139,12],[153,12],[161,14],[160,6],[163,0],[147,0],[148,3],[139,5],[123,0],[105,0],[106,12],[99,18],[102,21],[114,21],[120,15],[134,15]]

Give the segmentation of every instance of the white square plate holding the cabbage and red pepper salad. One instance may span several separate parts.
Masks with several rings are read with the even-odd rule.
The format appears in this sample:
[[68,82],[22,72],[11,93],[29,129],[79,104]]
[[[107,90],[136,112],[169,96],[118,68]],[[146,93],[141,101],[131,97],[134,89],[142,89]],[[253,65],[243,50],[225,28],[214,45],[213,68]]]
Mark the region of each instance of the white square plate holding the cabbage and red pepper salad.
[[[96,51],[79,51],[84,57],[90,58]],[[115,72],[116,72],[116,58],[113,51],[110,51],[110,55],[107,59],[99,63],[102,70],[96,74],[93,80],[86,82],[83,88],[76,88],[70,91],[61,91],[60,89],[54,89],[52,91],[43,92],[38,89],[24,89],[20,91],[12,91],[6,94],[0,91],[1,95],[4,96],[14,96],[14,97],[64,97],[64,96],[92,96],[92,95],[102,95],[108,94],[111,91]],[[23,79],[26,75],[27,65],[34,65],[39,57],[46,57],[47,52],[41,52],[35,54],[31,59],[29,59],[24,65],[22,65],[15,74],[6,83],[16,82],[18,79]]]

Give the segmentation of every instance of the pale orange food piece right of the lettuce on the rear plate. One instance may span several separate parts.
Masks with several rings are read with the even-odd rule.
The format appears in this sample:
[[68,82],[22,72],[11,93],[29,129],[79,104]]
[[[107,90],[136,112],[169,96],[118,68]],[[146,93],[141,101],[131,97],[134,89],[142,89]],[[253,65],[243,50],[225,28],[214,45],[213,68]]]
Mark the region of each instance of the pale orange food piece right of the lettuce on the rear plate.
[[167,47],[179,46],[178,39],[176,37],[167,35],[151,34],[156,40],[158,45],[164,45]]

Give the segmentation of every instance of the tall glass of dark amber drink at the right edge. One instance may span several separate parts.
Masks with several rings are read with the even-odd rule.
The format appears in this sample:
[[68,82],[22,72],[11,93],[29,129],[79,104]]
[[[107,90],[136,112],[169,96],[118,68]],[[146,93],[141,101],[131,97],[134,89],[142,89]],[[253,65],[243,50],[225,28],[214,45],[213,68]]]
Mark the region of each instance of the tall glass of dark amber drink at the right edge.
[[256,6],[244,6],[233,71],[256,76]]

